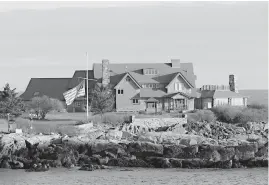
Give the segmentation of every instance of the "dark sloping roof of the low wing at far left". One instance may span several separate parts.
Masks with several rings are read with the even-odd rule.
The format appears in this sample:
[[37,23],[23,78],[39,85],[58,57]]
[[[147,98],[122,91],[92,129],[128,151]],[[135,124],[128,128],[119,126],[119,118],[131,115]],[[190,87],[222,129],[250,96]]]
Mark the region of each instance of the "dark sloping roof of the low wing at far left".
[[63,93],[68,90],[71,78],[31,78],[25,92],[20,96],[23,100],[31,100],[35,95],[46,95],[64,100]]

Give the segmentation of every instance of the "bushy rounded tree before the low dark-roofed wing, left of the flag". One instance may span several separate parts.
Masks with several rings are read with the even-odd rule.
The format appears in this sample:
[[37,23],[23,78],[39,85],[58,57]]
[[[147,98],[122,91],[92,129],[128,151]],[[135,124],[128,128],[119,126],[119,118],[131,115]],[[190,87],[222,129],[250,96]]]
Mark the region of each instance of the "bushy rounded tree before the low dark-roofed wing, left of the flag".
[[29,108],[34,110],[38,119],[45,119],[46,115],[50,111],[62,111],[64,105],[61,101],[48,96],[34,97],[29,103]]

